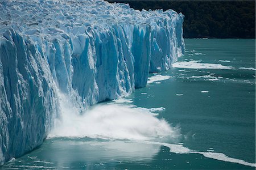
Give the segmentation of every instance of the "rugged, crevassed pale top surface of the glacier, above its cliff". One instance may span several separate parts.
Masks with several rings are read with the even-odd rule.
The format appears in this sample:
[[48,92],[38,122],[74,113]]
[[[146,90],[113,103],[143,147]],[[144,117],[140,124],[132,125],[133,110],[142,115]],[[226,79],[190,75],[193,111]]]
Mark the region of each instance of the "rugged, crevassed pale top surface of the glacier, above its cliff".
[[107,31],[109,25],[114,24],[158,27],[166,25],[164,22],[170,22],[170,18],[177,15],[173,10],[139,11],[124,3],[112,4],[103,0],[0,2],[0,29],[11,26],[33,40],[37,35],[45,39],[49,35],[69,39],[70,35],[79,35],[90,29]]

